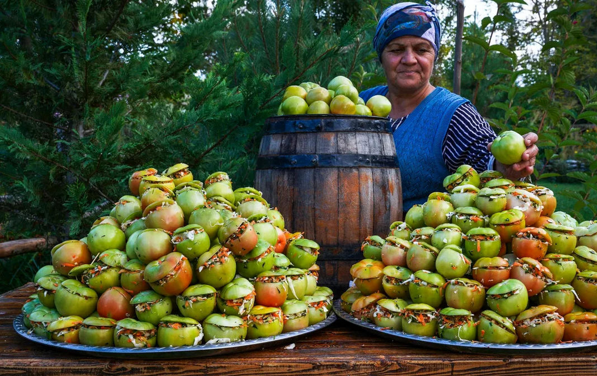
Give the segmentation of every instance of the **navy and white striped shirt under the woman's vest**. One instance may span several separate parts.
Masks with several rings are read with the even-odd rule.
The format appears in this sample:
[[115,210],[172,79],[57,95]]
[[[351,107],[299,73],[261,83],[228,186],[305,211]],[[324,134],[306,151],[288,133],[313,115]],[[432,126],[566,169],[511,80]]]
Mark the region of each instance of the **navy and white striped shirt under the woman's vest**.
[[[408,117],[390,119],[392,132]],[[470,164],[477,172],[493,170],[494,156],[487,150],[487,144],[496,138],[496,133],[470,102],[456,108],[448,125],[442,156],[450,172],[462,164]]]

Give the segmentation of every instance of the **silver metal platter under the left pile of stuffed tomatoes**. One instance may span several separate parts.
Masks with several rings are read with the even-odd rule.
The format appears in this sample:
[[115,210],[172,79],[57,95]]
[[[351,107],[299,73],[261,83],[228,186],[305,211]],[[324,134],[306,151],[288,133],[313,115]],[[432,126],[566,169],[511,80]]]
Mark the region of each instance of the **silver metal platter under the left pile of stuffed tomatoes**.
[[197,346],[179,346],[179,347],[150,347],[148,349],[128,349],[124,347],[108,347],[108,346],[87,346],[84,344],[64,343],[46,338],[39,337],[36,334],[27,333],[29,329],[23,324],[23,314],[21,313],[13,321],[14,330],[27,340],[35,343],[44,344],[45,346],[54,347],[55,349],[69,350],[73,352],[80,352],[83,354],[98,356],[101,358],[126,358],[126,359],[152,359],[159,354],[160,359],[177,359],[177,358],[195,358],[199,356],[215,356],[229,353],[245,352],[256,349],[263,349],[264,347],[280,346],[285,343],[292,342],[298,337],[313,333],[327,327],[336,321],[336,315],[331,313],[327,319],[310,327],[282,333],[266,338],[257,338],[254,340],[245,340],[232,343],[219,344],[200,344]]

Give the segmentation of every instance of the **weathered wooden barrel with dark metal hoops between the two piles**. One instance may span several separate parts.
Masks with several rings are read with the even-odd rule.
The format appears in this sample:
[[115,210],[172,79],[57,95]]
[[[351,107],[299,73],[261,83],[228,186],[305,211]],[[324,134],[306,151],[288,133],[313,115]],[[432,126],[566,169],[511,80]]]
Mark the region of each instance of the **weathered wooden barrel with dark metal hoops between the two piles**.
[[389,120],[302,115],[266,120],[255,188],[288,231],[321,246],[319,284],[346,289],[368,235],[402,218],[402,186]]

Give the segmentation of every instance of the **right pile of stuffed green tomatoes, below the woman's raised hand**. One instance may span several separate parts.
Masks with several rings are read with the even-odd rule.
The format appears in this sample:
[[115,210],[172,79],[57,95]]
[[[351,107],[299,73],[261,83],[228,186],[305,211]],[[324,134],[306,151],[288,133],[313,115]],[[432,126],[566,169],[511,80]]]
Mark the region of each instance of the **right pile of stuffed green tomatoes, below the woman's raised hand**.
[[444,187],[388,237],[362,243],[343,310],[448,340],[597,340],[597,223],[555,212],[550,189],[493,170],[460,166]]

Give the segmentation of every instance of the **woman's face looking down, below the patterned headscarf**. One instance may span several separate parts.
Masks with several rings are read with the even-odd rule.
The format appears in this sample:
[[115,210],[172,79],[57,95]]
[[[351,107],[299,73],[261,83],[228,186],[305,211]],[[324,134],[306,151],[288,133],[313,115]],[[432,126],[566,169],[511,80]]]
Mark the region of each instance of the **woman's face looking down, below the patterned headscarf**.
[[435,51],[429,41],[418,36],[400,36],[381,53],[390,92],[417,92],[429,85]]

